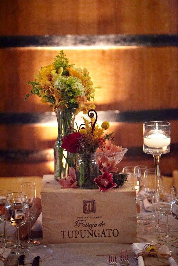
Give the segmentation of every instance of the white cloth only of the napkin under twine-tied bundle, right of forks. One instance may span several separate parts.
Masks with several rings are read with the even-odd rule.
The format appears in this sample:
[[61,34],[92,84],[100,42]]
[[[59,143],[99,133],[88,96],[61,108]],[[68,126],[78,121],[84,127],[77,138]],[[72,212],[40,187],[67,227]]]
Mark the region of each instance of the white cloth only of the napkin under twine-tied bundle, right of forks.
[[[133,243],[132,244],[132,249],[134,250],[135,254],[138,254],[139,252],[141,252],[141,250],[143,250],[143,248],[144,248],[144,246],[146,244],[147,243]],[[139,250],[136,250],[136,249],[139,249]],[[169,248],[167,246],[163,246],[162,252],[167,253],[167,254],[171,254],[170,251],[169,251]],[[169,257],[168,260],[169,260],[171,266],[178,266],[177,263],[175,262],[175,260],[172,257]],[[139,266],[145,266],[142,256],[138,257],[138,264],[139,264]]]

